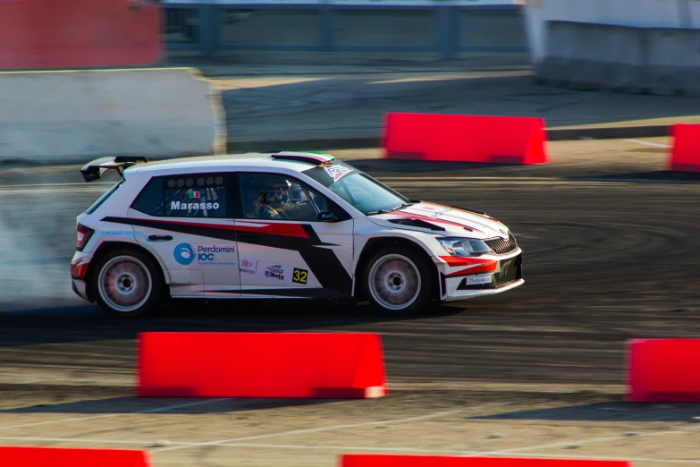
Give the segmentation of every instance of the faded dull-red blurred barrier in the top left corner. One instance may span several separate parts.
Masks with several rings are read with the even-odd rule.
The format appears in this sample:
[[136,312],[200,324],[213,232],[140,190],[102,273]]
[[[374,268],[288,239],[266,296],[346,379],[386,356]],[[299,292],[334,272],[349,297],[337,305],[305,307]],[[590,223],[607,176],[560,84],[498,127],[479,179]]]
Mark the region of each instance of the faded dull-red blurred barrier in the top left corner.
[[0,69],[154,64],[161,7],[135,0],[0,0]]

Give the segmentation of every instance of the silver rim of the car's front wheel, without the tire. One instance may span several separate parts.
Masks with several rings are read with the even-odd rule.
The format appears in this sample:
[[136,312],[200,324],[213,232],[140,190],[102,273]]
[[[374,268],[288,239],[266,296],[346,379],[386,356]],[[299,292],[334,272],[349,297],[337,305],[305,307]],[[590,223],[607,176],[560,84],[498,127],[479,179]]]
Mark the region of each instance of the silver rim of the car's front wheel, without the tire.
[[383,256],[369,270],[369,292],[388,310],[409,308],[420,293],[418,268],[405,256]]

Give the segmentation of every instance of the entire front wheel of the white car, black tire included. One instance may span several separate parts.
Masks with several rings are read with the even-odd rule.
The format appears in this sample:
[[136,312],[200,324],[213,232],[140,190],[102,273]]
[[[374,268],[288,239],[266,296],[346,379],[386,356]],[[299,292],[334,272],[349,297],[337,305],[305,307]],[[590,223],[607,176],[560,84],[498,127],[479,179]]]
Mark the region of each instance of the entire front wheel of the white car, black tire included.
[[433,287],[433,275],[426,261],[401,246],[377,251],[362,271],[365,299],[373,310],[388,316],[411,315],[426,309]]

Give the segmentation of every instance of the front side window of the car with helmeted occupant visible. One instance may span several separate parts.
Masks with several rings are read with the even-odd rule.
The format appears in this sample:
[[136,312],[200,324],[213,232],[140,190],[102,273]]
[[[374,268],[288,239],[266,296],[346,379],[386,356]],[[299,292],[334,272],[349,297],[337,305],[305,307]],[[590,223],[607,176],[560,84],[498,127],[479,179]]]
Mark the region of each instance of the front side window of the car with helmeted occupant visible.
[[[240,174],[243,217],[316,221],[335,204],[298,180],[276,174]],[[336,214],[340,217],[340,214]]]

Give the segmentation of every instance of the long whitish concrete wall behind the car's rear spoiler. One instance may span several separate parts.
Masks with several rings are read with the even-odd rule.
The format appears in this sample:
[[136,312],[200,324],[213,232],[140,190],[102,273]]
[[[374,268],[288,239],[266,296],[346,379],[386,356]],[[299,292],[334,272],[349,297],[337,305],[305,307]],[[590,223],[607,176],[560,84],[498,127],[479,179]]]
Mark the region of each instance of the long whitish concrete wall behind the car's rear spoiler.
[[223,152],[219,98],[194,73],[0,73],[0,161],[83,163],[103,156]]

